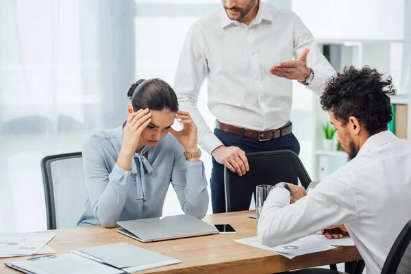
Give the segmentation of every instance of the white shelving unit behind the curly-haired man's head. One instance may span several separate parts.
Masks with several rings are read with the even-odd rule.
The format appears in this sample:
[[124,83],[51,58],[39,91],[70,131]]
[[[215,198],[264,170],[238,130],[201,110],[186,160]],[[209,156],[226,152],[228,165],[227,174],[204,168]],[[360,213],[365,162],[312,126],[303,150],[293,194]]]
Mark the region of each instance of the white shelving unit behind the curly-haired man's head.
[[[344,66],[361,67],[369,65],[384,77],[391,75],[397,90],[390,96],[391,103],[408,105],[407,139],[411,140],[411,40],[353,40],[353,39],[318,39],[320,49],[330,45],[329,56],[334,58],[334,69],[342,71]],[[407,56],[406,60],[403,59]],[[336,59],[337,58],[337,59]],[[337,66],[337,67],[335,67]],[[321,110],[319,96],[313,96],[313,179],[321,179],[333,173],[347,162],[345,151],[327,151],[323,149],[324,133],[322,125],[329,121],[327,112]],[[335,136],[334,136],[335,138]],[[335,142],[336,143],[336,142]],[[336,148],[335,148],[336,149]]]

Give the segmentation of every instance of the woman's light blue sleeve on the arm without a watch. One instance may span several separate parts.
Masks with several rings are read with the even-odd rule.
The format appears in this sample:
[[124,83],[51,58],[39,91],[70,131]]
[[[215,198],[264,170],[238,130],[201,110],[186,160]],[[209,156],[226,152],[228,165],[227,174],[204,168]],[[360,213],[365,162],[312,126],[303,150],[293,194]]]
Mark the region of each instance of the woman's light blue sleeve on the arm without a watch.
[[105,166],[101,145],[90,137],[83,147],[84,173],[92,212],[103,227],[114,227],[127,198],[129,171]]

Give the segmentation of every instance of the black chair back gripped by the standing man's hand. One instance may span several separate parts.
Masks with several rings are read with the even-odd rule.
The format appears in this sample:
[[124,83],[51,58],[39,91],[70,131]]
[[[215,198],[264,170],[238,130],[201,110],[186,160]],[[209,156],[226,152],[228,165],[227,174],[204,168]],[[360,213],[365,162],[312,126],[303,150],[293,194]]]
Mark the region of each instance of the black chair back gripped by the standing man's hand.
[[[225,168],[225,201],[227,212],[249,210],[251,197],[259,184],[278,182],[301,183],[307,188],[311,182],[298,155],[290,150],[247,153],[249,171],[238,176]],[[254,195],[256,202],[256,195]]]

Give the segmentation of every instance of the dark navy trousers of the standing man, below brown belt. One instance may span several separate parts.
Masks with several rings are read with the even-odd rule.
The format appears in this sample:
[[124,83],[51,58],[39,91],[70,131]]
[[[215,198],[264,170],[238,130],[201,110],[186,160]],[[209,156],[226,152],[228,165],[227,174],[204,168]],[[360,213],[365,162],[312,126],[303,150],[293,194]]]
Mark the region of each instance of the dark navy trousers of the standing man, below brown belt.
[[[292,133],[267,141],[259,141],[255,138],[223,132],[220,129],[214,129],[214,134],[226,147],[239,147],[245,153],[289,149],[299,154],[300,151],[299,142]],[[216,162],[214,157],[212,158],[210,187],[212,212],[225,212],[224,165]]]

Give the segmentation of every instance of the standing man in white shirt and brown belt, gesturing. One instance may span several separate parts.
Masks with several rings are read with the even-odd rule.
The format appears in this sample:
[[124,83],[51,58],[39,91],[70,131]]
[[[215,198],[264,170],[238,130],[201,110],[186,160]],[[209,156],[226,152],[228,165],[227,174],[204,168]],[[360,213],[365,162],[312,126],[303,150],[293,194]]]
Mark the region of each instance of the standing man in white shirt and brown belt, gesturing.
[[[223,9],[190,28],[174,82],[179,105],[199,128],[199,145],[213,156],[214,213],[225,212],[224,166],[241,176],[249,170],[245,153],[299,153],[290,123],[290,80],[321,93],[334,74],[295,13],[259,0],[222,3]],[[197,109],[206,77],[214,134]]]

